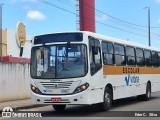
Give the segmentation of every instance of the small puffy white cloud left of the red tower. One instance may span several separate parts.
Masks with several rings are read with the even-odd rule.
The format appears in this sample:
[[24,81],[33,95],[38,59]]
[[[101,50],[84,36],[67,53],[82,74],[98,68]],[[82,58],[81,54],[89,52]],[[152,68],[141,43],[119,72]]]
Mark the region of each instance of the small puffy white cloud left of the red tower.
[[29,10],[27,12],[27,18],[31,20],[45,20],[46,16],[38,10]]

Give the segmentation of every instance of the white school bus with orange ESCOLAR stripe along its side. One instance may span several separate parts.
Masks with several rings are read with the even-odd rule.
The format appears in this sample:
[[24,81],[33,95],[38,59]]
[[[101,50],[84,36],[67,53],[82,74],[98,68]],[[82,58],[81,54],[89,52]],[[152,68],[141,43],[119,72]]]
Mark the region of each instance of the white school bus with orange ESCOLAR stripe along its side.
[[31,51],[33,104],[97,104],[116,99],[149,100],[160,90],[160,49],[92,32],[35,36]]

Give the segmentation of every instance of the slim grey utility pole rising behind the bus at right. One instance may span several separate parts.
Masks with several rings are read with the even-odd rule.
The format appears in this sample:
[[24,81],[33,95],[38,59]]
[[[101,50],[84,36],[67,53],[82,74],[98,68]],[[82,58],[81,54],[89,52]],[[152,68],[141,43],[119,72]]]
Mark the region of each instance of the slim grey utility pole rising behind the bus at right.
[[148,43],[151,46],[150,7],[145,7],[144,9],[148,9]]

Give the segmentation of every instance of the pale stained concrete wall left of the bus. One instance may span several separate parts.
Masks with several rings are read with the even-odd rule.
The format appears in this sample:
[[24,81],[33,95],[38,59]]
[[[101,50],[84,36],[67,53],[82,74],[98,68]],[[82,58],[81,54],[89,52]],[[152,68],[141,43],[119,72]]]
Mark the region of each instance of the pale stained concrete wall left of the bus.
[[29,83],[29,64],[0,62],[0,102],[30,98]]

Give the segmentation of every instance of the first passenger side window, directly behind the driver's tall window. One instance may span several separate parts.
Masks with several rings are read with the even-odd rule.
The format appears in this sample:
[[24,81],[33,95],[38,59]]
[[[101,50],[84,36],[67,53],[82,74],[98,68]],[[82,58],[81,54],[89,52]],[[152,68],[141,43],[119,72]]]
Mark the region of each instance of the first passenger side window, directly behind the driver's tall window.
[[113,44],[110,42],[102,42],[103,64],[114,64]]

